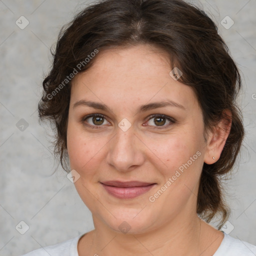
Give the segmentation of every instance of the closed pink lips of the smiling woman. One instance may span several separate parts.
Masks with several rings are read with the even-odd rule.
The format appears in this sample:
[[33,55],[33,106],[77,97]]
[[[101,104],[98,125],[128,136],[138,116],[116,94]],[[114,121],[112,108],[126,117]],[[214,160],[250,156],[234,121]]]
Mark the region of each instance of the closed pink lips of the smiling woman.
[[134,198],[140,194],[147,192],[155,183],[140,182],[140,181],[118,181],[109,180],[100,182],[106,191],[121,199]]

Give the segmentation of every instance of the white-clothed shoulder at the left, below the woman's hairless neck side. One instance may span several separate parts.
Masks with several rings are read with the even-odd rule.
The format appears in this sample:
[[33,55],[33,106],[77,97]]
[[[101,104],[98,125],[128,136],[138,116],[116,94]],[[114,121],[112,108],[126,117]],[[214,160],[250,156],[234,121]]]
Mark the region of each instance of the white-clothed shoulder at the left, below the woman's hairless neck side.
[[78,256],[77,242],[79,238],[80,235],[54,245],[32,250],[21,256]]

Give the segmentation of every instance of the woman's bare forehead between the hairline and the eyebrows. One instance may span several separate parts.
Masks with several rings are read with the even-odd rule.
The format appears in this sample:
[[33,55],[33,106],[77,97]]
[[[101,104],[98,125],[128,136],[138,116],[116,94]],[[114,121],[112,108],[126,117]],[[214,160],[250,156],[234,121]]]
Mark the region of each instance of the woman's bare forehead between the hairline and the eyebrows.
[[74,77],[71,101],[86,97],[129,107],[162,99],[184,107],[196,104],[192,88],[174,80],[170,71],[168,54],[152,45],[104,49],[90,68]]

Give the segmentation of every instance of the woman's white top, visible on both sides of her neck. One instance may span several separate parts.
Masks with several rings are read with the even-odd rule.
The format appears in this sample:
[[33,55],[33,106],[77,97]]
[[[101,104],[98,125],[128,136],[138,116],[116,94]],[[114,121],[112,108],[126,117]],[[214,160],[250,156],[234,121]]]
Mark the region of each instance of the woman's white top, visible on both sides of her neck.
[[[82,234],[83,235],[83,234]],[[77,243],[79,235],[73,239],[30,251],[20,256],[79,256]],[[224,232],[224,238],[212,256],[255,256],[256,246],[233,238]]]

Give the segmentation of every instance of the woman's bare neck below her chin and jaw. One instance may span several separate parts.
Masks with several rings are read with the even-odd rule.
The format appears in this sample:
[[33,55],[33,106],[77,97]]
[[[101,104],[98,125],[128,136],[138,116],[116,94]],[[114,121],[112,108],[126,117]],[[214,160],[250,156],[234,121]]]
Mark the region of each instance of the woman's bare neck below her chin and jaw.
[[[210,246],[214,237],[221,236],[220,231],[209,227],[196,214],[187,218],[178,216],[162,227],[136,234],[124,234],[112,230],[102,225],[102,222],[95,217],[93,222],[95,229],[90,232],[91,239],[88,242],[91,244],[90,248],[83,249],[83,252],[89,250],[90,255],[206,256],[212,255],[222,240],[218,239],[214,246]],[[218,232],[217,236],[216,233],[213,234],[212,229]]]

